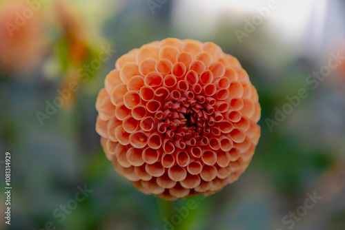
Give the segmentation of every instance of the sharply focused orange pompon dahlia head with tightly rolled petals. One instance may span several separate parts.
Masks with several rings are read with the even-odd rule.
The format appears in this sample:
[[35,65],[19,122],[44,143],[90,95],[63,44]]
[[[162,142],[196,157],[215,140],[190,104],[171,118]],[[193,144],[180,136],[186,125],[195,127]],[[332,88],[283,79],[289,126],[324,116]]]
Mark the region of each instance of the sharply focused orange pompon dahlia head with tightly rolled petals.
[[244,172],[260,136],[257,91],[215,43],[164,39],[124,54],[100,90],[106,157],[144,194],[208,196]]

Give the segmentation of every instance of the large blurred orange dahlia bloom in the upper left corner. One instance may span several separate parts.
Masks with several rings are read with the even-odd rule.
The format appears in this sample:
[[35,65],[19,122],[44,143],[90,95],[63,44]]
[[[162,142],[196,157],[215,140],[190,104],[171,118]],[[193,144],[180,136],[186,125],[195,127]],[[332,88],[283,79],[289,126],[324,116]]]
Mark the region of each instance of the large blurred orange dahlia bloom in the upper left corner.
[[39,65],[47,48],[43,21],[26,1],[0,4],[0,70],[24,73]]

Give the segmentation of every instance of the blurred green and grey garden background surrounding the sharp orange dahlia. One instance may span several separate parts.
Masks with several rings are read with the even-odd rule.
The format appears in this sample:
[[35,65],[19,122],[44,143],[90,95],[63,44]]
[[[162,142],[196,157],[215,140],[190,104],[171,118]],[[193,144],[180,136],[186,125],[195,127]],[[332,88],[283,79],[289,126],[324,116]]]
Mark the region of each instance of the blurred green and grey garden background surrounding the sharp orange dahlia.
[[[1,192],[0,229],[344,230],[344,15],[341,0],[1,0],[0,181],[10,151],[12,221]],[[237,57],[262,106],[250,167],[205,199],[141,194],[95,132],[115,61],[166,37],[213,41]],[[301,89],[308,96],[296,99]]]

